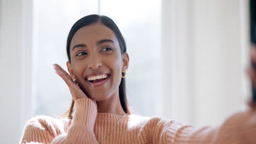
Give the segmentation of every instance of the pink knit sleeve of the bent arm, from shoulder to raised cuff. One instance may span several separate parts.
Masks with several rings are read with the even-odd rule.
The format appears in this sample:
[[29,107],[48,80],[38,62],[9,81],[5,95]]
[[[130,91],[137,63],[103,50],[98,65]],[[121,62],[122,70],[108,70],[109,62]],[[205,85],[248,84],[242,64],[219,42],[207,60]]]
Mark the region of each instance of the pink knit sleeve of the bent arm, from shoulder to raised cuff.
[[45,121],[33,118],[27,123],[20,143],[97,143],[94,135],[94,124],[97,116],[96,103],[89,98],[77,99],[74,103],[73,121],[66,134],[61,134],[55,129],[63,127],[63,125],[53,124],[51,127],[46,127]]

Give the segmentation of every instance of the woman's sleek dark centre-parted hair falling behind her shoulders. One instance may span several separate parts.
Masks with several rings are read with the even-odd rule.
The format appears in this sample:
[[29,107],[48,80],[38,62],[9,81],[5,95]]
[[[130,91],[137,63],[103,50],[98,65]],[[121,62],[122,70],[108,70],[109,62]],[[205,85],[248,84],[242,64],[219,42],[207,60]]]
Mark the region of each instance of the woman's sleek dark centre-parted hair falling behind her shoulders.
[[[88,26],[97,22],[102,23],[104,26],[108,27],[115,33],[115,36],[117,37],[118,43],[120,45],[121,54],[123,55],[126,52],[126,44],[125,44],[124,37],[119,31],[118,26],[115,25],[112,19],[104,15],[95,15],[95,14],[88,15],[88,16],[82,17],[80,20],[75,22],[71,30],[69,31],[68,38],[67,38],[67,57],[70,63],[71,63],[71,57],[70,57],[69,48],[75,32],[77,32],[79,28],[82,28],[84,26]],[[121,106],[123,107],[123,110],[130,115],[131,111],[130,111],[129,103],[126,98],[125,78],[121,79],[121,83],[119,85],[119,98],[120,98],[120,103],[121,103]],[[63,113],[62,117],[72,118],[73,107],[74,107],[74,100],[72,100],[71,106],[69,107],[68,111]]]

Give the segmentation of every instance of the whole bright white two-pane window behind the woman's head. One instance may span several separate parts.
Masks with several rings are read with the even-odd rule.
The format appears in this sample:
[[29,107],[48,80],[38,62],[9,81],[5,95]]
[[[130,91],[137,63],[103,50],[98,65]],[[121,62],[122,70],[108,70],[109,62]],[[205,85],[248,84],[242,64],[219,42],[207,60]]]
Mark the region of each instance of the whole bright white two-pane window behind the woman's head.
[[[49,4],[51,3],[51,4]],[[136,3],[136,4],[135,4]],[[143,7],[139,6],[143,5]],[[66,83],[53,63],[67,71],[66,39],[73,23],[89,14],[112,18],[123,33],[130,56],[127,95],[141,115],[158,115],[161,99],[161,1],[34,1],[36,115],[60,116],[71,103]],[[132,9],[132,10],[131,10]],[[154,10],[153,10],[154,9]]]

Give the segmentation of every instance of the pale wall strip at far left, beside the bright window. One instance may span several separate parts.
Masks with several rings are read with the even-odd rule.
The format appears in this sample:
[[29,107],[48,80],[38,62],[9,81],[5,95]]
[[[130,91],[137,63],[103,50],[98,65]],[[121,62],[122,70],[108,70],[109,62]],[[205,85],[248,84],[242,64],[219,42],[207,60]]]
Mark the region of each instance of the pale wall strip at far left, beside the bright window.
[[32,113],[32,0],[3,0],[0,10],[0,143],[18,143]]

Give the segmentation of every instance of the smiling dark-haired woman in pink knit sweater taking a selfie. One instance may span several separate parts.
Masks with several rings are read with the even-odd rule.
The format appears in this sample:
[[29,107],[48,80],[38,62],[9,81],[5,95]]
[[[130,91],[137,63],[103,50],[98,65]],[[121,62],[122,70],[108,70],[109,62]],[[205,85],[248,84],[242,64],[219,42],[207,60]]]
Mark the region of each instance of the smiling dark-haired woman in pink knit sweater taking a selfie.
[[[256,59],[256,52],[252,53]],[[251,109],[235,113],[218,127],[195,128],[169,119],[131,115],[125,94],[129,55],[117,25],[106,16],[89,15],[75,22],[68,34],[67,55],[69,74],[54,64],[73,97],[66,118],[32,118],[20,143],[256,141],[256,109],[252,103]],[[248,69],[248,75],[254,80],[253,69]]]

